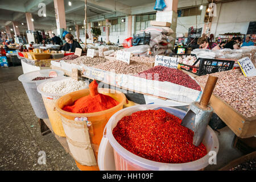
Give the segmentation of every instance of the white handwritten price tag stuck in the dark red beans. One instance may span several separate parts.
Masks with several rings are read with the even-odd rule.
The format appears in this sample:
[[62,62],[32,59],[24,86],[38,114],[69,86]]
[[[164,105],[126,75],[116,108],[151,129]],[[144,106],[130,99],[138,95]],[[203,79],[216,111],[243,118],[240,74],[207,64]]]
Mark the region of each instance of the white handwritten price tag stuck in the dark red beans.
[[155,56],[155,66],[164,66],[168,68],[177,69],[177,65],[179,64],[179,60],[177,57],[169,57],[169,56]]

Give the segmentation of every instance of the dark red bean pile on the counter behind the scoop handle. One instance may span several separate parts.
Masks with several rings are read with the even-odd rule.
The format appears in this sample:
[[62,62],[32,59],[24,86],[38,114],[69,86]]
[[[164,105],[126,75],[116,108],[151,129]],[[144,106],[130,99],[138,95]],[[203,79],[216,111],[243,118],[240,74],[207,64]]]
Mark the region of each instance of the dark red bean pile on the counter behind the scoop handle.
[[[158,74],[155,77],[155,74]],[[190,76],[185,74],[183,71],[175,68],[167,68],[163,66],[156,66],[150,68],[144,72],[138,73],[134,76],[146,78],[148,80],[159,80],[159,81],[168,81],[177,85],[186,86],[194,90],[201,91],[200,85],[197,84]]]

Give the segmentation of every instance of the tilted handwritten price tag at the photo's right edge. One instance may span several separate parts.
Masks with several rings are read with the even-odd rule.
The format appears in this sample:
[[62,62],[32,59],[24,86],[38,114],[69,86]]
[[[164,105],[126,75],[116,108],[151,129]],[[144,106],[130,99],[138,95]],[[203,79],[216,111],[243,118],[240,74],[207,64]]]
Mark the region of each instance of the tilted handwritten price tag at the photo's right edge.
[[256,76],[256,69],[249,57],[243,57],[242,59],[238,60],[237,63],[240,65],[245,77]]

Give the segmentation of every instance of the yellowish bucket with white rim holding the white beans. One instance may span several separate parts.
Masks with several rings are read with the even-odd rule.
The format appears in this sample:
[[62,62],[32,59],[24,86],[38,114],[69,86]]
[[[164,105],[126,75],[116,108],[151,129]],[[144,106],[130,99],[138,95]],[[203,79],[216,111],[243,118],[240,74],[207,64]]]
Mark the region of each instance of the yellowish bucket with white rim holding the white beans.
[[[64,129],[62,126],[60,114],[59,114],[59,112],[56,111],[55,105],[56,105],[57,100],[67,93],[59,93],[59,94],[58,93],[47,93],[47,92],[43,92],[42,88],[47,82],[59,81],[59,80],[70,79],[70,78],[71,77],[57,77],[57,78],[53,78],[51,80],[44,81],[42,84],[38,85],[38,92],[40,94],[42,94],[44,106],[46,107],[49,121],[51,122],[51,125],[52,125],[52,130],[59,137],[66,137],[66,135],[65,135],[65,132],[64,132]],[[86,89],[86,88],[88,88],[88,86],[85,86],[82,89]]]

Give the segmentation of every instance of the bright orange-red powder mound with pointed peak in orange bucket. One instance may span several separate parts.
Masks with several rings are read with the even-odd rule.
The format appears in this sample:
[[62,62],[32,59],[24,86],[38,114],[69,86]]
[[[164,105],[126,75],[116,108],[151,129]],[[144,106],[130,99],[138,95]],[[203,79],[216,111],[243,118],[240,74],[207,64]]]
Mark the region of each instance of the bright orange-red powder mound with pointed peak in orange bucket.
[[64,106],[63,110],[71,113],[95,113],[110,109],[119,104],[112,97],[98,93],[98,84],[93,80],[89,85],[90,95],[76,100],[73,105]]

